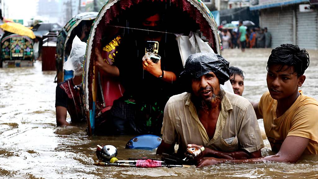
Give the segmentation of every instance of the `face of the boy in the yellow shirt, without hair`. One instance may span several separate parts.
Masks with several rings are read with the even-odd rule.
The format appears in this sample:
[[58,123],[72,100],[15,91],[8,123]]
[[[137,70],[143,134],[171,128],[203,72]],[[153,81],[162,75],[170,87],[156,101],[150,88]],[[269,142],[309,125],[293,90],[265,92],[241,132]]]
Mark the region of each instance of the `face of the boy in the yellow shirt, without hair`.
[[305,81],[304,75],[297,77],[294,73],[294,67],[283,66],[281,71],[277,72],[281,65],[268,66],[267,88],[273,99],[286,99],[293,94],[298,93],[298,87]]

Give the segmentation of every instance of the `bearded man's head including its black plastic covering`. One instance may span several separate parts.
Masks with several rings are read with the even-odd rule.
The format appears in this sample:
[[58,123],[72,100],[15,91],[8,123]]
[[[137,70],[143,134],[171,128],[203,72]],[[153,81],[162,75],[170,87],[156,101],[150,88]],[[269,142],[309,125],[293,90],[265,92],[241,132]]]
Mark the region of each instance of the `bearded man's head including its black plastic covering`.
[[218,54],[192,54],[180,77],[192,98],[202,107],[211,109],[223,98],[224,90],[220,88],[220,84],[229,80],[229,62]]

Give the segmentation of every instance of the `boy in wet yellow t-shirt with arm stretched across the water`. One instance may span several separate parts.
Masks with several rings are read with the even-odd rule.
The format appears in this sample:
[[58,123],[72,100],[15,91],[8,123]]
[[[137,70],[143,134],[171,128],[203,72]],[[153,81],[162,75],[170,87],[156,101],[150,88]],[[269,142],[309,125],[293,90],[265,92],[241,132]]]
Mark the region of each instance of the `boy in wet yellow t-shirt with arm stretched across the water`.
[[199,167],[225,161],[296,162],[302,154],[318,154],[318,102],[305,96],[299,87],[305,82],[309,54],[296,45],[282,44],[272,50],[267,61],[268,91],[253,104],[257,118],[264,119],[266,136],[275,155],[248,160],[206,157]]

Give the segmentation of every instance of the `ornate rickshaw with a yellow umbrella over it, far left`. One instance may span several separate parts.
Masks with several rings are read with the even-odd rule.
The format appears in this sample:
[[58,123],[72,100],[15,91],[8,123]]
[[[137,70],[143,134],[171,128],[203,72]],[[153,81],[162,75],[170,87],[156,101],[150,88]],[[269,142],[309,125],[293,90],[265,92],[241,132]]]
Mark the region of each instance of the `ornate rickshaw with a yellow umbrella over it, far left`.
[[22,24],[8,22],[0,26],[4,34],[0,40],[1,64],[6,67],[33,66],[34,33]]

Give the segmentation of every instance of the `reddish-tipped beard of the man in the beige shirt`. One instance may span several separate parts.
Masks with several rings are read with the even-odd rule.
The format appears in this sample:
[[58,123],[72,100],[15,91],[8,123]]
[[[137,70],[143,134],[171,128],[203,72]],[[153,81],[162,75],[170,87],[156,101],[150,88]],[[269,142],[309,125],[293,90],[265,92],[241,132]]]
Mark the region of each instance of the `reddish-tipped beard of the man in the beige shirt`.
[[[202,90],[207,90],[207,89],[214,91],[211,88],[204,88]],[[192,100],[198,109],[209,113],[212,109],[217,109],[220,106],[224,95],[225,95],[225,91],[222,88],[220,88],[219,93],[218,94],[213,93],[211,98],[202,99],[200,97],[195,97],[194,95],[192,95]]]

